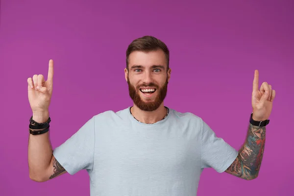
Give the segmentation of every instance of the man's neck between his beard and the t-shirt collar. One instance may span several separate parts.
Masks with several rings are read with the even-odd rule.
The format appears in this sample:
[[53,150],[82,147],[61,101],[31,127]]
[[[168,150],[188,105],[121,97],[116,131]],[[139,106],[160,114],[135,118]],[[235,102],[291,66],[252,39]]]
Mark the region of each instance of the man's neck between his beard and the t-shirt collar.
[[164,107],[163,102],[156,110],[151,112],[143,111],[134,104],[131,108],[131,113],[141,123],[153,124],[161,121],[167,115],[167,109]]

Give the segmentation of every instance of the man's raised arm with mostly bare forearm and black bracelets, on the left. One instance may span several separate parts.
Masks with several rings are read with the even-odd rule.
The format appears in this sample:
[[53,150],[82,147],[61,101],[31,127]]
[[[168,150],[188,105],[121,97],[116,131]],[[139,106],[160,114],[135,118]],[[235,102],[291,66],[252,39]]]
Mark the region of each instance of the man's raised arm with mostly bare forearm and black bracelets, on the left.
[[[49,104],[53,87],[53,61],[49,61],[48,80],[44,76],[33,75],[27,79],[28,99],[33,115],[32,120],[36,123],[46,123],[49,120]],[[34,127],[31,131],[47,131],[43,134],[29,134],[28,140],[28,167],[30,179],[44,182],[59,176],[66,171],[60,166],[52,154],[49,141],[49,123],[46,127],[38,128],[36,123],[30,123]]]

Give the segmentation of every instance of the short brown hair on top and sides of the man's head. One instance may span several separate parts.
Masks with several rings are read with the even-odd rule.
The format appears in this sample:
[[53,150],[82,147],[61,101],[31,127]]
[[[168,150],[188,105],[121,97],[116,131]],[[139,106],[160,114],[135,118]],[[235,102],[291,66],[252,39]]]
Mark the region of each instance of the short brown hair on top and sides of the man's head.
[[157,49],[163,50],[163,52],[166,55],[167,59],[167,71],[169,70],[169,64],[170,64],[170,51],[167,47],[167,45],[162,42],[161,40],[153,37],[153,36],[144,36],[135,39],[130,43],[128,48],[126,49],[126,69],[128,70],[128,57],[130,53],[133,51],[155,51]]

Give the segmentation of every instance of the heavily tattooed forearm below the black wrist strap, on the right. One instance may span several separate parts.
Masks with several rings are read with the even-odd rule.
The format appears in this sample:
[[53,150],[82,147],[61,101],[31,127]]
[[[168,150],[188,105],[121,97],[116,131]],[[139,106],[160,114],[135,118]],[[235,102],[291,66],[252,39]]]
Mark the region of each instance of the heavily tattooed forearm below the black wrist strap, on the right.
[[266,127],[249,124],[244,146],[226,172],[250,180],[257,177],[266,140]]

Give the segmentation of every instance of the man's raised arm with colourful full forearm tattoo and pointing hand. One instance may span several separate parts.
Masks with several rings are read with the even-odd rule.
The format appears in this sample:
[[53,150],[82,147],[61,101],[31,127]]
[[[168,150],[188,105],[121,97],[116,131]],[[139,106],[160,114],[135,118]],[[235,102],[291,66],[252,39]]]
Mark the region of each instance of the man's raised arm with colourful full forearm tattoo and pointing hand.
[[[263,82],[260,90],[258,89],[258,76],[259,73],[255,70],[251,116],[253,124],[249,123],[245,144],[239,150],[238,157],[226,170],[227,173],[246,180],[255,179],[258,176],[265,149],[266,126],[259,126],[257,122],[266,122],[269,119],[275,98],[275,90],[272,90],[271,85],[267,82]],[[257,124],[254,124],[254,121]]]

